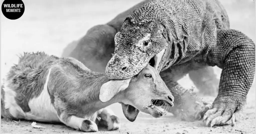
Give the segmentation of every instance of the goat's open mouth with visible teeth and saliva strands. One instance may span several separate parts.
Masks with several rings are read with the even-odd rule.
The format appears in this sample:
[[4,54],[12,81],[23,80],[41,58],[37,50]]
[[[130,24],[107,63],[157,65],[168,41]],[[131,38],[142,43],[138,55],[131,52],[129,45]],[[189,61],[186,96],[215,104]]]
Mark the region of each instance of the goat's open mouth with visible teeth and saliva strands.
[[[152,99],[151,100],[151,108],[155,108],[160,116],[166,115],[166,110],[172,106],[165,100]],[[163,107],[163,108],[162,108]]]

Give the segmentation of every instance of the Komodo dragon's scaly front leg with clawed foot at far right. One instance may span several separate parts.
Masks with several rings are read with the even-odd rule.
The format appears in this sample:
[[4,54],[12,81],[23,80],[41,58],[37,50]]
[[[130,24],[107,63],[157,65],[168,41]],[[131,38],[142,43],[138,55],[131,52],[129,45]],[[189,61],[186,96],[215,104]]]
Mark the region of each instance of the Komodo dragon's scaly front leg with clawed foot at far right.
[[214,102],[198,114],[207,125],[232,125],[243,113],[247,94],[255,74],[255,44],[240,31],[217,30],[217,44],[210,48],[207,59],[211,66],[222,68],[219,93]]

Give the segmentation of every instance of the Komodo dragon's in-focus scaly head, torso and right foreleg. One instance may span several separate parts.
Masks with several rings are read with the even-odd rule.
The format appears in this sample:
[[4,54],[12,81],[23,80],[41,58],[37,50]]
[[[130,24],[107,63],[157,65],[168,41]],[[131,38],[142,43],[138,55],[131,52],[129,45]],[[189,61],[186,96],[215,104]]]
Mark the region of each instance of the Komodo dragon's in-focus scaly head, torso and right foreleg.
[[[198,119],[203,119],[207,126],[221,125],[230,119],[234,125],[242,115],[253,82],[255,44],[240,31],[222,27],[215,8],[216,1],[212,0],[146,2],[125,19],[116,33],[106,75],[110,79],[130,79],[152,58],[152,65],[168,78],[168,72],[182,76],[190,70],[218,66],[223,70],[217,98],[198,113]],[[176,71],[179,69],[183,72]],[[170,79],[175,79],[175,75]],[[170,87],[180,87],[171,82],[174,84]]]

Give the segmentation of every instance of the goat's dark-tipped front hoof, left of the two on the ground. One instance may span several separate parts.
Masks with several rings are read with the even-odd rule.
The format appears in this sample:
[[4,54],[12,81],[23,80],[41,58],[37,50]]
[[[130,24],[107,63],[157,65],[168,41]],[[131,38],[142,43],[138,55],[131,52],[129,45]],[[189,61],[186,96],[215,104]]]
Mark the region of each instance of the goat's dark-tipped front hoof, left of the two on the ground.
[[80,130],[85,131],[85,132],[97,132],[98,127],[97,127],[96,123],[94,123],[93,121],[85,119],[82,122]]

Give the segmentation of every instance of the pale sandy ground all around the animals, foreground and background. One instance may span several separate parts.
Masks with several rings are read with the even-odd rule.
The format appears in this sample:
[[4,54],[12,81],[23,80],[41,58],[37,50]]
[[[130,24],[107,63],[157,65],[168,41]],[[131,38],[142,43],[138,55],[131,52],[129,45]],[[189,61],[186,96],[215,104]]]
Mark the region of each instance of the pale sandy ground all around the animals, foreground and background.
[[[90,27],[111,20],[139,1],[23,0],[23,2],[25,13],[17,20],[8,20],[1,12],[1,78],[13,63],[17,63],[17,54],[22,54],[24,51],[45,51],[60,56],[68,43],[81,38]],[[236,0],[222,0],[230,17],[231,28],[244,32],[256,41],[255,4],[250,0],[236,2]],[[220,76],[221,69],[216,67],[215,70]],[[194,86],[187,76],[179,83],[186,88]],[[180,121],[171,113],[161,118],[140,113],[134,122],[129,122],[124,117],[120,104],[113,104],[110,107],[120,117],[121,128],[116,131],[96,133],[256,133],[255,87],[254,82],[248,94],[244,116],[237,122],[235,128],[231,126],[208,128],[203,126],[202,121]],[[211,101],[214,99],[214,97],[204,98]],[[35,129],[30,124],[31,122],[28,121],[15,122],[2,119],[1,133],[80,133],[62,124],[37,123],[46,127],[45,129]]]

